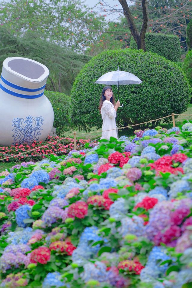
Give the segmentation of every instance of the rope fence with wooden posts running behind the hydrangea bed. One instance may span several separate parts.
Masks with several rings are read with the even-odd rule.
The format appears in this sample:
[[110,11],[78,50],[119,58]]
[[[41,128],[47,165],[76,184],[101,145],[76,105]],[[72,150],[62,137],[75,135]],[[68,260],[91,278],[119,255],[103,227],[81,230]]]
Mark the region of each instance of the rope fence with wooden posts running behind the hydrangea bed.
[[[102,133],[102,132],[106,132],[106,131],[125,129],[125,128],[130,128],[130,127],[134,127],[134,126],[143,125],[143,124],[147,124],[147,123],[150,123],[150,122],[158,121],[158,120],[165,119],[165,118],[168,118],[168,117],[172,117],[173,127],[176,127],[176,125],[175,125],[175,116],[181,116],[181,115],[182,115],[182,116],[192,116],[192,114],[175,114],[175,113],[172,113],[171,115],[168,115],[168,116],[165,116],[165,117],[161,117],[161,118],[158,118],[158,119],[154,119],[154,120],[150,120],[150,121],[146,121],[146,122],[142,122],[142,123],[138,123],[138,124],[134,124],[134,125],[128,125],[128,126],[125,126],[125,127],[117,127],[117,128],[109,129],[109,130],[91,131],[91,132],[86,132],[86,133],[76,133],[76,131],[74,131],[72,134],[68,135],[67,137],[62,137],[62,138],[60,138],[60,139],[58,139],[58,140],[55,140],[55,141],[53,141],[53,142],[51,142],[51,143],[48,143],[48,144],[43,145],[43,146],[39,146],[39,147],[37,147],[37,148],[35,148],[35,149],[28,150],[28,151],[26,151],[26,152],[23,152],[23,153],[20,153],[20,154],[17,154],[17,155],[11,155],[11,156],[8,156],[8,155],[7,155],[8,157],[2,158],[2,159],[0,159],[0,161],[4,161],[4,160],[10,159],[10,158],[15,158],[15,157],[17,157],[17,156],[25,155],[25,154],[27,154],[27,153],[36,151],[36,150],[41,149],[41,148],[44,148],[44,147],[46,147],[46,146],[53,145],[53,144],[55,144],[55,143],[57,143],[57,142],[59,142],[59,141],[61,141],[61,140],[63,140],[63,139],[69,138],[69,137],[72,136],[72,135],[73,135],[73,148],[68,149],[68,150],[66,150],[65,152],[71,151],[72,149],[75,149],[75,150],[76,150],[76,135],[92,134],[92,133],[100,133],[100,132]],[[100,139],[100,138],[98,138],[98,139]],[[88,143],[92,143],[92,142],[94,142],[94,141],[96,141],[96,140],[98,140],[98,139],[92,140],[92,141],[90,141],[90,142],[88,142]],[[78,148],[80,148],[80,147],[82,147],[82,146],[84,146],[84,144],[78,146]],[[62,153],[62,152],[63,152],[63,151],[59,151],[59,152],[55,152],[54,154],[57,155],[57,154],[60,154],[60,153]],[[53,153],[46,154],[46,155],[51,155],[51,154],[53,154]],[[26,157],[36,157],[36,156],[37,156],[37,155],[27,155]],[[42,157],[43,157],[43,156],[45,156],[45,154],[38,155],[38,156],[42,156]]]

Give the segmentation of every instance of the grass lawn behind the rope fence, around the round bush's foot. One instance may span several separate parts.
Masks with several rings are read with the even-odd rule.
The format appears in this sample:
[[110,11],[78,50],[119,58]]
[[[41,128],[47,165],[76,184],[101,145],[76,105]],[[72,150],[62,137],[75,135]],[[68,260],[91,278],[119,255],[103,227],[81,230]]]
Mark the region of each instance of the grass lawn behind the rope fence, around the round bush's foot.
[[[182,113],[182,114],[192,114],[192,104],[189,104],[187,110]],[[171,118],[171,117],[170,117]],[[179,126],[179,125],[182,125],[182,121],[183,120],[192,120],[192,116],[179,116],[177,119],[176,119],[176,126]],[[172,119],[171,119],[172,121]],[[166,123],[161,123],[160,124],[163,128],[167,128],[167,129],[170,129],[173,127],[173,123],[169,123],[169,124],[166,124]],[[147,126],[146,128],[154,128],[152,126],[152,123],[149,123],[149,126]],[[119,137],[122,136],[122,135],[125,135],[125,136],[132,136],[133,135],[133,132],[134,132],[135,128],[129,128],[129,129],[122,129],[121,131],[119,131]],[[91,140],[95,140],[95,139],[98,139],[101,137],[101,129],[96,129],[95,127],[92,127],[91,128],[91,132],[92,131],[95,131],[95,133],[88,133],[86,134],[85,131],[79,131],[78,129],[76,130],[76,138],[77,139],[91,139]],[[70,135],[73,133],[73,130],[69,130],[67,132],[64,133],[64,136],[66,137],[67,135]],[[81,133],[80,135],[78,135],[79,133]],[[70,138],[73,138],[73,135],[70,136]]]

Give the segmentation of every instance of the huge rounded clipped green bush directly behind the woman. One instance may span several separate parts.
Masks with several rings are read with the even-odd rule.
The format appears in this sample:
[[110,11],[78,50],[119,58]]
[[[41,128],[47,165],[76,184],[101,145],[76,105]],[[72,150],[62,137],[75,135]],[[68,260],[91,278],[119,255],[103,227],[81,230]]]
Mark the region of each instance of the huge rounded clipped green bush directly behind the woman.
[[[143,83],[119,85],[119,99],[124,104],[118,109],[116,123],[119,127],[180,114],[187,109],[191,88],[186,75],[173,62],[143,50],[110,50],[95,56],[77,75],[71,91],[73,125],[90,130],[101,128],[98,110],[104,85],[94,82],[109,71],[124,70],[135,74]],[[112,85],[118,100],[117,86]],[[169,118],[166,118],[168,121]]]

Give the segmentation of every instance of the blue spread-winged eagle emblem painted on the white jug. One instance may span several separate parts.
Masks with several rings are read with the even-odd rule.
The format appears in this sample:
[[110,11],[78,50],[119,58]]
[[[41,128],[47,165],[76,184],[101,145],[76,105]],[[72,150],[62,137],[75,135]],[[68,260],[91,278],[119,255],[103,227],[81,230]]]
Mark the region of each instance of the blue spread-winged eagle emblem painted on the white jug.
[[[12,131],[15,132],[14,142],[15,144],[28,144],[31,145],[34,140],[39,140],[39,136],[41,135],[40,130],[43,130],[41,126],[43,125],[43,117],[35,117],[33,120],[32,116],[27,116],[25,121],[23,118],[14,118],[13,127],[15,127]],[[23,124],[26,124],[24,126]]]

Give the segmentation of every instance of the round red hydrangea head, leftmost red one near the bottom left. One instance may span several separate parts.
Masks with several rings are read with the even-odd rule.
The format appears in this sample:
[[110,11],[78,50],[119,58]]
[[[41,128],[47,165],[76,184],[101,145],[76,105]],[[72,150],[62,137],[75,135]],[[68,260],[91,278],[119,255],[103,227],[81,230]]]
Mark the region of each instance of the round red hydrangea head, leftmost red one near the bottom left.
[[38,247],[30,254],[31,263],[46,264],[50,260],[50,250],[48,247]]

